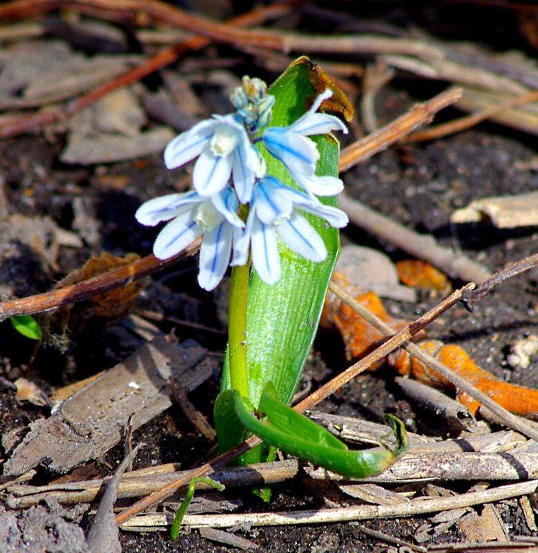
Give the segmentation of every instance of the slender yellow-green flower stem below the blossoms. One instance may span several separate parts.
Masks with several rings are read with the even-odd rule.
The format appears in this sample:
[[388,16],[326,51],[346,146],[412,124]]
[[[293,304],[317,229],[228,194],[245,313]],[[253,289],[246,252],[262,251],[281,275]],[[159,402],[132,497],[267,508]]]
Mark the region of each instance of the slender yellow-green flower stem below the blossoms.
[[247,373],[247,289],[249,264],[233,267],[228,309],[228,351],[231,388],[249,397]]

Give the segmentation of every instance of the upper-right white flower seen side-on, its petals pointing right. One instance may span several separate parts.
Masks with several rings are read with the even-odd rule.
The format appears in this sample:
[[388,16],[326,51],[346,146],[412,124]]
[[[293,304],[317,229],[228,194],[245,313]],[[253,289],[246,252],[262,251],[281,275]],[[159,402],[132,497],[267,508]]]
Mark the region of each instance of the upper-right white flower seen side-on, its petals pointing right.
[[311,135],[325,135],[332,130],[347,133],[347,127],[338,117],[316,113],[323,100],[331,96],[331,90],[325,90],[296,122],[287,127],[268,128],[261,136],[267,151],[286,166],[291,177],[309,195],[332,196],[343,190],[343,182],[337,177],[316,176],[320,155],[316,144],[307,138]]

